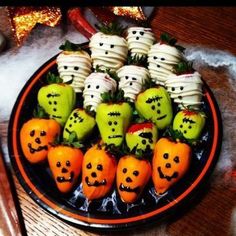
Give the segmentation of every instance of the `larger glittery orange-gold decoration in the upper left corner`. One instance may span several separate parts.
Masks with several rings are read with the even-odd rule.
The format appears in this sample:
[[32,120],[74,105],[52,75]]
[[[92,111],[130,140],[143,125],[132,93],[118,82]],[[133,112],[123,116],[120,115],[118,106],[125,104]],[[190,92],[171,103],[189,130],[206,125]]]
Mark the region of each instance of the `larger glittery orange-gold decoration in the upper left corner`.
[[58,7],[7,7],[14,38],[18,46],[37,23],[54,27],[61,20]]

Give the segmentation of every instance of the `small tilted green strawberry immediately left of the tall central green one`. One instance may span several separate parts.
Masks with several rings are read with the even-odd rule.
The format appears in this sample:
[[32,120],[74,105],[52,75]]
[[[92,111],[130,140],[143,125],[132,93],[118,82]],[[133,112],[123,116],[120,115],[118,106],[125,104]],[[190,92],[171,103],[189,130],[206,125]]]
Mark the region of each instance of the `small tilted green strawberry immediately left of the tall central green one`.
[[79,141],[84,140],[93,130],[96,122],[83,109],[75,109],[69,116],[63,132],[63,138],[69,139],[70,134],[75,131]]

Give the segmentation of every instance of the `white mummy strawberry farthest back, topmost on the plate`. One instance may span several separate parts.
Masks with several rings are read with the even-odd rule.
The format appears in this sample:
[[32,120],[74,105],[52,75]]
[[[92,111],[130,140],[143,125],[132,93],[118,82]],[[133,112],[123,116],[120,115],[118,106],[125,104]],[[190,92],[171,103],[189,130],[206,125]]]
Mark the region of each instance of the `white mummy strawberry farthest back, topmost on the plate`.
[[130,27],[128,29],[127,41],[131,56],[146,56],[150,47],[156,41],[151,28]]

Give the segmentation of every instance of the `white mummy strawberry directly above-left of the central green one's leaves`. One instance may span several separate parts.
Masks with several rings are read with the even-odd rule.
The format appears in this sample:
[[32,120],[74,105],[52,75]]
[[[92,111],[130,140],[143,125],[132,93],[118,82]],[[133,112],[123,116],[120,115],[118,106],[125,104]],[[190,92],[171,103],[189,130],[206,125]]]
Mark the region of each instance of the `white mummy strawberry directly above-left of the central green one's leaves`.
[[91,111],[96,111],[97,106],[102,102],[101,94],[105,92],[114,93],[117,88],[116,81],[109,74],[94,72],[84,81],[83,91],[84,108],[90,107]]

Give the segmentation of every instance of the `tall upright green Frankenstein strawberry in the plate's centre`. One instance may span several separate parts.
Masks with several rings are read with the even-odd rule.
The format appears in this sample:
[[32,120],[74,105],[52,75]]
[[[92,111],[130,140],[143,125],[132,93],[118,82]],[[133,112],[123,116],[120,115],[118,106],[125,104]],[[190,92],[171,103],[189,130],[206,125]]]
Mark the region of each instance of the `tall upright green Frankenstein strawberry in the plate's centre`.
[[120,146],[131,117],[132,108],[128,103],[98,105],[96,122],[103,142]]

